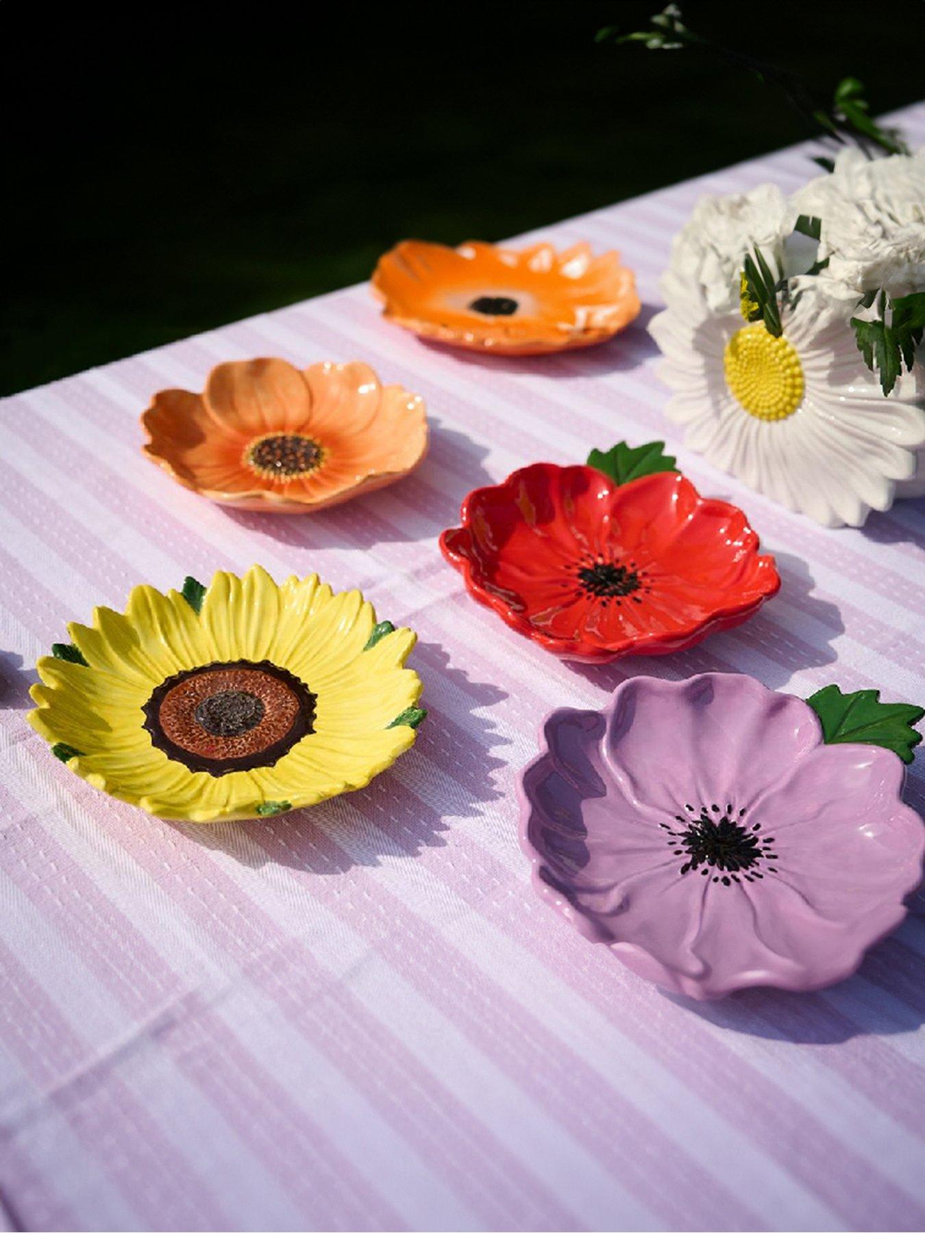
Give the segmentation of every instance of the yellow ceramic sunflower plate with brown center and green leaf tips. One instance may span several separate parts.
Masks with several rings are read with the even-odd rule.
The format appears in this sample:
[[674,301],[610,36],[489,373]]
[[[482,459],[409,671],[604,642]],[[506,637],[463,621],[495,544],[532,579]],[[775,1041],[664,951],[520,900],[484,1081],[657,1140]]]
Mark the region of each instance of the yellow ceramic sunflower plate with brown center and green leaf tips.
[[94,788],[158,817],[268,817],[364,788],[427,711],[416,635],[317,575],[187,578],[97,608],[37,663],[30,723]]

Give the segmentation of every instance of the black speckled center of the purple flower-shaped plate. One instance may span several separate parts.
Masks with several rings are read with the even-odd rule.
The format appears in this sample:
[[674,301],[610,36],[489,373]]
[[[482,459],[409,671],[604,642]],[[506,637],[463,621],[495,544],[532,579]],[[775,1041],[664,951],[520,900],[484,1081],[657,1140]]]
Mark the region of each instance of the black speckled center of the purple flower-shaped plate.
[[701,805],[699,815],[693,805],[684,805],[684,809],[689,816],[676,815],[675,820],[681,824],[677,830],[667,822],[659,824],[668,832],[675,856],[684,858],[680,873],[701,869],[702,877],[712,875],[713,882],[722,882],[724,887],[739,882],[740,874],[746,882],[754,882],[766,873],[777,873],[775,866],[766,864],[777,859],[775,841],[761,834],[761,822],[742,821],[745,809],[735,816],[731,805],[725,810],[717,804]]

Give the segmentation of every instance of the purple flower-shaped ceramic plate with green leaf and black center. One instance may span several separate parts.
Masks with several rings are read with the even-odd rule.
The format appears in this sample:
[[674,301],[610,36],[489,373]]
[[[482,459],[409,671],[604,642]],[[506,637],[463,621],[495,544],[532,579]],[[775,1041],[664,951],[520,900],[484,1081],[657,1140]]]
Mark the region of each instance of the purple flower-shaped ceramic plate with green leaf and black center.
[[553,711],[520,779],[534,887],[675,993],[830,985],[921,879],[900,757],[924,714],[723,673],[633,677],[601,711]]

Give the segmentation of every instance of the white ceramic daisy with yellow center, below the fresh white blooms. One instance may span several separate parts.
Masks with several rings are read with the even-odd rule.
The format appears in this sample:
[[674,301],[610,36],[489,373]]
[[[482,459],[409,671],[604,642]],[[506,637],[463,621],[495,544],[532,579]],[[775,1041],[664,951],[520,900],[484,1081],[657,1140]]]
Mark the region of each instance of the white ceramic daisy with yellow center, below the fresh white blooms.
[[684,443],[788,509],[828,526],[863,524],[914,477],[925,416],[915,372],[884,398],[845,327],[844,303],[812,280],[783,311],[783,334],[738,312],[710,314],[694,295],[649,329]]

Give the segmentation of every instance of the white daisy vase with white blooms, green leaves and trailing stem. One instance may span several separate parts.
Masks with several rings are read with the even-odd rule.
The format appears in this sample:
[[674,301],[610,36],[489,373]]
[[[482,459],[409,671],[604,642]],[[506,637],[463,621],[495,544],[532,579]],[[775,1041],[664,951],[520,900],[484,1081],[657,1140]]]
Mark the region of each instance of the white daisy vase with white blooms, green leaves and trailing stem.
[[828,526],[925,493],[925,152],[871,117],[857,78],[826,101],[676,4],[597,37],[757,76],[840,149],[789,200],[771,184],[701,199],[676,237],[650,332],[686,443]]

